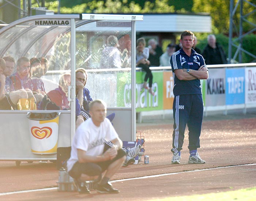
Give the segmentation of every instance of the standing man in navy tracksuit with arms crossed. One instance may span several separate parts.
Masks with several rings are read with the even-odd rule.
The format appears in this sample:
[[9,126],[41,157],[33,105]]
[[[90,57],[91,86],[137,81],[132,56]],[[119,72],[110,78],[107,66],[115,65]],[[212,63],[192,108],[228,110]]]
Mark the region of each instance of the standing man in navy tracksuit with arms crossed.
[[186,125],[189,130],[188,163],[205,163],[197,153],[197,148],[200,147],[199,137],[203,121],[200,79],[208,79],[208,69],[203,56],[192,49],[194,34],[191,31],[181,33],[180,43],[182,48],[170,59],[174,79],[172,163],[180,164]]

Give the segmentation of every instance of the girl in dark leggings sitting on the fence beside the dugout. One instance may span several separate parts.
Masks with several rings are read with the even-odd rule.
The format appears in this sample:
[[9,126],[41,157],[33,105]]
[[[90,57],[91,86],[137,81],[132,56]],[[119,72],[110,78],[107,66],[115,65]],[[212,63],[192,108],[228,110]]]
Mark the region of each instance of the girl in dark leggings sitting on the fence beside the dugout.
[[[145,47],[146,41],[144,38],[139,38],[136,41],[136,66],[141,67],[146,72],[144,77],[143,88],[147,89],[150,94],[155,95],[152,90],[153,75],[149,68],[150,61],[148,60],[149,48]],[[149,88],[147,87],[147,80]]]

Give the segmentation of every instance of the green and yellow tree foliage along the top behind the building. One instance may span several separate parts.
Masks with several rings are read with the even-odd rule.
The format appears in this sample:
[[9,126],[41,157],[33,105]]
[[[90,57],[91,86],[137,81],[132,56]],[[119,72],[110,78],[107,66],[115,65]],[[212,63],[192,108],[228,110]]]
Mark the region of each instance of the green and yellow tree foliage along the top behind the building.
[[[239,2],[238,2],[239,1]],[[31,0],[32,7],[38,7],[36,0]],[[238,36],[239,33],[239,20],[240,17],[240,3],[242,2],[243,13],[247,15],[243,21],[243,31],[248,32],[255,28],[253,24],[256,24],[256,10],[252,6],[255,4],[255,0],[234,0],[234,6],[239,3],[233,16],[233,31],[234,36]],[[53,10],[55,13],[58,12],[59,1],[46,0],[45,6],[49,10]],[[217,36],[218,42],[222,46],[226,47],[225,52],[227,53],[228,47],[228,33],[229,33],[229,7],[230,1],[223,0],[61,0],[61,14],[78,14],[78,13],[210,13],[212,18],[212,33]],[[198,47],[203,49],[206,46],[206,37],[208,33],[195,33],[198,39]],[[246,36],[243,40],[243,47],[249,52],[253,52],[254,49],[250,46],[251,40],[254,39],[255,35]],[[179,37],[179,36],[178,36]],[[234,53],[232,51],[232,53]],[[254,54],[256,55],[256,54]],[[246,58],[246,62],[251,61],[252,58]]]

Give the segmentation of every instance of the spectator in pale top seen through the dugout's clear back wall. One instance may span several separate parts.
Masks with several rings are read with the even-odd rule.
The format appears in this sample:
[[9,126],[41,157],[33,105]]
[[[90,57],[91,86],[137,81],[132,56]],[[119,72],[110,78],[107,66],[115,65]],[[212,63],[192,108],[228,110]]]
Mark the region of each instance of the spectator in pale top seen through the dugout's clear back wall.
[[101,53],[100,68],[121,68],[121,53],[117,47],[117,37],[113,35],[109,36],[106,47]]

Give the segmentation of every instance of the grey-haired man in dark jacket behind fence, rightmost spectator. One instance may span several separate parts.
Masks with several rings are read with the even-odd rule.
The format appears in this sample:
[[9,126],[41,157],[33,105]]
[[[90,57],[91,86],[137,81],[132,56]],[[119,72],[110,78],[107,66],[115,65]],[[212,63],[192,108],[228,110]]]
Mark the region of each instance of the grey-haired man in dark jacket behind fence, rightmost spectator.
[[221,47],[216,42],[216,37],[213,34],[207,36],[207,46],[203,50],[202,56],[204,57],[205,63],[207,65],[212,64],[226,64],[226,54]]

